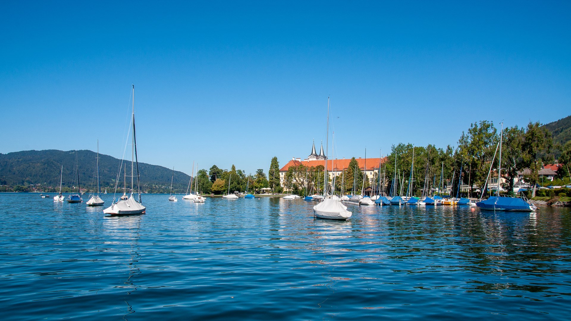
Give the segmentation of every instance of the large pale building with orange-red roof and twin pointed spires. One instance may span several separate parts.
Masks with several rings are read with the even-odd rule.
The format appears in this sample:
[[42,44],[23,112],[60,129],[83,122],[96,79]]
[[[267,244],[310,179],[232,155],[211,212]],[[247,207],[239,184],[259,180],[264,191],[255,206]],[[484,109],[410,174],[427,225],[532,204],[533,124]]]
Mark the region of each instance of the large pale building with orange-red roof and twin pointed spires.
[[[282,168],[280,168],[280,184],[284,187],[284,176],[288,171],[289,167],[292,166],[299,166],[303,164],[303,166],[308,167],[316,167],[316,166],[325,166],[325,161],[327,161],[327,171],[329,174],[329,178],[332,179],[333,176],[341,175],[344,170],[347,170],[349,167],[349,162],[351,159],[327,159],[325,154],[323,153],[323,145],[321,146],[320,153],[317,154],[315,151],[315,142],[313,143],[313,148],[311,150],[311,154],[304,160],[301,158],[293,157],[289,162],[287,162]],[[366,170],[366,174],[369,178],[369,183],[372,183],[373,174],[375,171],[379,170],[379,167],[384,164],[387,160],[386,157],[384,158],[356,158],[357,164],[359,164],[359,168],[361,171]]]

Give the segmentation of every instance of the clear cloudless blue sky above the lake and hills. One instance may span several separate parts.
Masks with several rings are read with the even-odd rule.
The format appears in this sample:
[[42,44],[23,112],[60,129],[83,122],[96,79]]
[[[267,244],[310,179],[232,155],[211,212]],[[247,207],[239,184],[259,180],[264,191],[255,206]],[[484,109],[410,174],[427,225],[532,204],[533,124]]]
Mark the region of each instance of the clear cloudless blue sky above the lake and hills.
[[131,84],[139,160],[247,172],[391,145],[456,145],[470,123],[571,111],[571,2],[0,4],[0,153],[121,157]]

